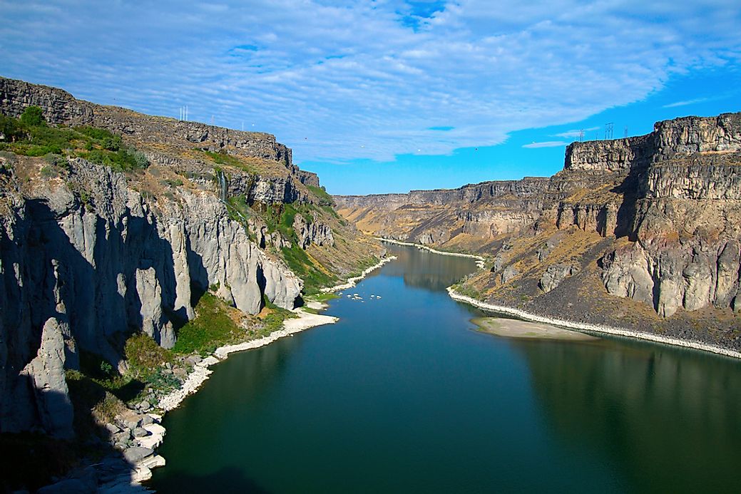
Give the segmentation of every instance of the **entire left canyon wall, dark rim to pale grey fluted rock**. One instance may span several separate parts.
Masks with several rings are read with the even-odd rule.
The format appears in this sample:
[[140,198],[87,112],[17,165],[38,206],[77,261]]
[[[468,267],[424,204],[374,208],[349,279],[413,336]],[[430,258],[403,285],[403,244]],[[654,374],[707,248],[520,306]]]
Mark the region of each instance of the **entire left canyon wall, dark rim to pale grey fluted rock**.
[[0,78],[0,113],[30,106],[50,126],[121,135],[148,167],[116,172],[69,154],[0,153],[2,433],[73,435],[64,373],[79,369],[80,353],[125,370],[132,333],[173,347],[209,287],[245,314],[266,303],[293,309],[309,275],[322,274],[306,282],[316,289],[381,253],[273,136]]

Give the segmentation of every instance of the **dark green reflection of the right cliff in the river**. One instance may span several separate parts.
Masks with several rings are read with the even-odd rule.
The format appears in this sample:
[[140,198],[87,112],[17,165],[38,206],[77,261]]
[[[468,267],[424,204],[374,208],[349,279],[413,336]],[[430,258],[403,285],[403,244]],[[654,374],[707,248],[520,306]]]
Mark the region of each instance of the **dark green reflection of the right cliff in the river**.
[[512,344],[528,361],[534,393],[559,439],[607,453],[633,484],[630,490],[738,487],[738,361],[626,341]]

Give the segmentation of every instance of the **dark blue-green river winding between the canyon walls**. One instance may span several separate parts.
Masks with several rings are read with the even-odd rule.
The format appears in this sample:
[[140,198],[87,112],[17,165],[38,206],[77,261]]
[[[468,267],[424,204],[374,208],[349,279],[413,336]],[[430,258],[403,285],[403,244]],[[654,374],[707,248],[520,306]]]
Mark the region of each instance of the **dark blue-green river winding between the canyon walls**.
[[[316,327],[214,367],[165,418],[163,493],[741,490],[741,363],[474,330],[466,258],[411,247]],[[370,295],[382,296],[371,299]]]

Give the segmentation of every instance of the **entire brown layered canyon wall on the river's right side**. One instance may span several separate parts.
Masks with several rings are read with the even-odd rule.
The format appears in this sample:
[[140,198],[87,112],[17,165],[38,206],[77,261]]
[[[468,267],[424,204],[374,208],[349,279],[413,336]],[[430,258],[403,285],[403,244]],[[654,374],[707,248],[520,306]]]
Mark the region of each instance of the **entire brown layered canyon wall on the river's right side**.
[[741,113],[574,142],[551,178],[339,196],[367,233],[487,254],[461,290],[741,348]]

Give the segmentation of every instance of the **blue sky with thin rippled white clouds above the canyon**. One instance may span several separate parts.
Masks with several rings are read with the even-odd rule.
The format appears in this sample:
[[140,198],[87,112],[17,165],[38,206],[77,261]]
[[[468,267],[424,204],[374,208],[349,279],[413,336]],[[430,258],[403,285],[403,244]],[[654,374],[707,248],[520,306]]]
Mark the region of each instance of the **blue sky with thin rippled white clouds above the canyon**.
[[548,176],[741,110],[734,1],[4,1],[0,75],[276,135],[330,193]]

